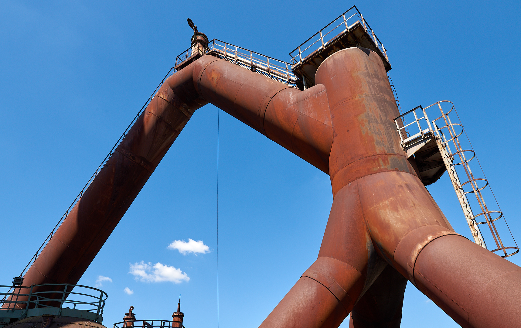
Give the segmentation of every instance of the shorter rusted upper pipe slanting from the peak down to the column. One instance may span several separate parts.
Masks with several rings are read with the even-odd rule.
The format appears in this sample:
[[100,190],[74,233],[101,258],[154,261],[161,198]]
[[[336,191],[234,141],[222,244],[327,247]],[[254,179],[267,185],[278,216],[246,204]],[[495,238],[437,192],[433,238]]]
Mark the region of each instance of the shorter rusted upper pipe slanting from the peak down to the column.
[[328,173],[333,131],[323,87],[302,92],[208,55],[193,74],[206,101]]

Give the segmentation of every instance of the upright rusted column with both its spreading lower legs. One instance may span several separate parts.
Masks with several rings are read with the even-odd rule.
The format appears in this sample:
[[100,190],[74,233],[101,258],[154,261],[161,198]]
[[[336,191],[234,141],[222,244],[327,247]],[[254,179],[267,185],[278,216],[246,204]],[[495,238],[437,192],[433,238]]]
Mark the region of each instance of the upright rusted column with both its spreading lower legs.
[[[332,118],[333,206],[317,261],[261,327],[334,327],[355,304],[352,326],[373,326],[361,313],[370,310],[364,294],[385,270],[379,259],[464,327],[521,325],[510,311],[521,306],[521,268],[454,232],[400,146],[398,109],[376,53],[339,51],[316,81]],[[389,312],[377,309],[384,324],[399,326],[398,311]]]

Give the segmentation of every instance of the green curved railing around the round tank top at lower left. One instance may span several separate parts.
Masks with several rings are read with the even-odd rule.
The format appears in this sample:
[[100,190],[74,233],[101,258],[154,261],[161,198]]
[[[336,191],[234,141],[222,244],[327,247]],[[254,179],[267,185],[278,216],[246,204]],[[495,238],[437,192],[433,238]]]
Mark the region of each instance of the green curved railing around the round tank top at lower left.
[[[42,286],[45,286],[46,290],[39,291]],[[0,310],[8,311],[23,310],[27,312],[29,309],[37,308],[71,308],[103,315],[107,299],[107,293],[103,290],[83,285],[42,284],[0,286],[0,288],[9,288],[7,291],[0,291],[0,296],[4,296],[4,299],[0,301]],[[11,289],[14,290],[11,291]],[[54,290],[49,291],[49,289]]]

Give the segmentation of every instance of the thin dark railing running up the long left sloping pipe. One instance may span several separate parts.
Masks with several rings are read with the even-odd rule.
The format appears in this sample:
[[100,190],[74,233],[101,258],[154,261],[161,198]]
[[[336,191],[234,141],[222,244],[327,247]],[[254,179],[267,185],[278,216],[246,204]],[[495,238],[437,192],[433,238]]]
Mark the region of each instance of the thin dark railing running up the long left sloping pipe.
[[128,127],[125,129],[125,131],[123,131],[123,133],[121,134],[121,136],[119,137],[119,139],[116,141],[116,143],[114,144],[114,147],[108,152],[107,156],[105,156],[105,159],[101,162],[101,164],[96,168],[96,171],[94,172],[94,174],[92,174],[92,176],[90,177],[90,179],[87,181],[87,183],[85,184],[85,186],[83,186],[83,188],[81,189],[81,191],[78,193],[78,196],[76,196],[76,198],[72,201],[72,203],[70,204],[69,208],[67,209],[67,211],[65,211],[64,215],[61,216],[61,218],[58,220],[58,223],[56,223],[56,225],[54,226],[54,228],[51,230],[51,233],[49,233],[49,235],[47,236],[47,238],[45,238],[45,240],[42,242],[42,245],[40,246],[40,248],[38,248],[38,250],[36,250],[36,252],[34,253],[34,255],[32,256],[32,258],[29,260],[29,262],[27,263],[26,267],[23,268],[22,272],[20,273],[20,277],[23,276],[23,274],[26,272],[27,268],[29,268],[29,265],[31,264],[31,262],[34,262],[36,261],[36,258],[38,257],[38,254],[40,253],[40,251],[45,247],[45,245],[47,245],[47,242],[49,240],[51,240],[51,238],[53,237],[54,233],[56,232],[56,230],[58,229],[58,227],[60,226],[61,222],[63,222],[63,220],[67,217],[67,215],[69,215],[69,211],[72,209],[72,207],[76,204],[76,202],[83,196],[83,192],[90,186],[90,184],[92,183],[92,181],[94,180],[94,178],[98,175],[98,173],[100,173],[101,169],[103,168],[103,166],[107,163],[108,159],[110,158],[110,155],[113,154],[114,150],[116,149],[116,147],[121,143],[121,141],[123,140],[123,138],[125,138],[125,136],[127,135],[127,132],[128,130],[132,127],[132,124],[134,124],[134,122],[138,119],[138,117],[141,115],[141,113],[143,112],[143,110],[145,109],[145,107],[148,105],[148,103],[150,103],[150,101],[152,100],[152,98],[154,98],[154,94],[156,93],[157,89],[159,89],[161,86],[163,86],[163,82],[169,77],[171,76],[172,74],[174,74],[176,72],[175,68],[170,68],[170,70],[168,71],[168,73],[165,75],[165,77],[163,78],[163,80],[161,80],[161,82],[159,83],[159,85],[157,86],[157,88],[154,90],[154,92],[152,92],[152,94],[150,95],[150,97],[148,97],[148,99],[146,100],[145,104],[141,107],[141,109],[139,110],[138,114],[136,114],[134,116],[134,118],[132,119],[132,122],[130,122],[130,124],[128,125]]

